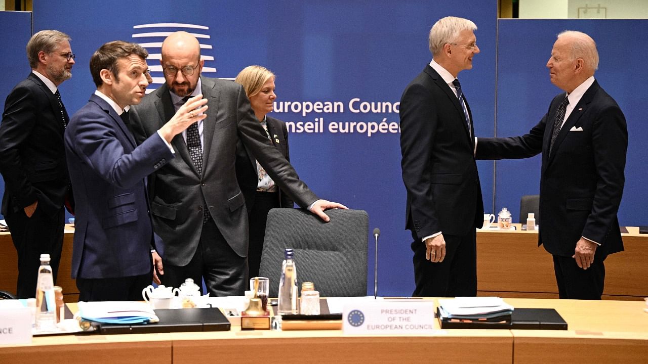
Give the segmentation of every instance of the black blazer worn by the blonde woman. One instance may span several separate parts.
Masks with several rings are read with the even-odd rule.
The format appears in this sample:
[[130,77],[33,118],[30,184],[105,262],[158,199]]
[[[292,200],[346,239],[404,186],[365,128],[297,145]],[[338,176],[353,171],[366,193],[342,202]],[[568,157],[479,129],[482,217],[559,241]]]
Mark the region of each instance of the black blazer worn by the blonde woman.
[[[286,157],[286,161],[290,162],[286,123],[269,116],[266,116],[266,122],[272,144],[279,150],[281,155]],[[257,159],[242,141],[238,141],[237,145],[237,179],[249,211],[254,206],[255,194],[259,185],[259,171],[257,170]],[[294,207],[294,202],[290,196],[283,192],[281,188],[279,188],[279,207],[291,209]]]

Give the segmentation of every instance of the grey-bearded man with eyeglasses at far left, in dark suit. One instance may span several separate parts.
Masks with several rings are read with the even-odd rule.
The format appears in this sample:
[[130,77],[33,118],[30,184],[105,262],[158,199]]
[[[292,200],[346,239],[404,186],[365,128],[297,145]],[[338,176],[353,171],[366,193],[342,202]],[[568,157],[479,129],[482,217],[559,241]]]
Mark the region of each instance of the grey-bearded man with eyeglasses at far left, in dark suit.
[[6,97],[0,124],[2,214],[18,256],[17,296],[36,295],[40,255],[49,253],[56,282],[64,205],[72,208],[63,133],[69,117],[57,87],[72,76],[70,37],[41,30],[27,43],[32,72]]

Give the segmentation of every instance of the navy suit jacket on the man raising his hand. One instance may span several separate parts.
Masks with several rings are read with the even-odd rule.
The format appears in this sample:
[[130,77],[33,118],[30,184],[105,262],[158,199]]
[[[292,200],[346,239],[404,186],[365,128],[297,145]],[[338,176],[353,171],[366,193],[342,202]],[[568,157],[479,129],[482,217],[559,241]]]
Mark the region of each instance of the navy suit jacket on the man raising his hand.
[[65,130],[76,201],[72,277],[150,272],[153,227],[145,177],[174,154],[152,135],[140,146],[108,102],[92,95]]

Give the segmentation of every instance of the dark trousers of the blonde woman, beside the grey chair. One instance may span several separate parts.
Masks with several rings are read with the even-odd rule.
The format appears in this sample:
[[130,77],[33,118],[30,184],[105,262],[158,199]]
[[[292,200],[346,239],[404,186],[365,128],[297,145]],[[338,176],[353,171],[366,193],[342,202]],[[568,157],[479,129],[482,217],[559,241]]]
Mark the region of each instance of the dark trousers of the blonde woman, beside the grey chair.
[[279,192],[257,192],[255,194],[254,205],[248,212],[248,277],[250,278],[259,276],[268,212],[275,207],[279,207]]

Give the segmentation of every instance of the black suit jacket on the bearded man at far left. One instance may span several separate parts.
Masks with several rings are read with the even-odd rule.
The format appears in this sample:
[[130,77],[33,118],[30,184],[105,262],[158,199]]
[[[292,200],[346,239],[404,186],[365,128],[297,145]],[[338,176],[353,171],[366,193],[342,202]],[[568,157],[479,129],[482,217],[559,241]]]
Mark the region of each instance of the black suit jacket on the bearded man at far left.
[[53,216],[69,188],[63,123],[58,100],[30,73],[5,101],[0,124],[0,173],[5,179],[2,213],[19,212],[38,200],[37,209]]

